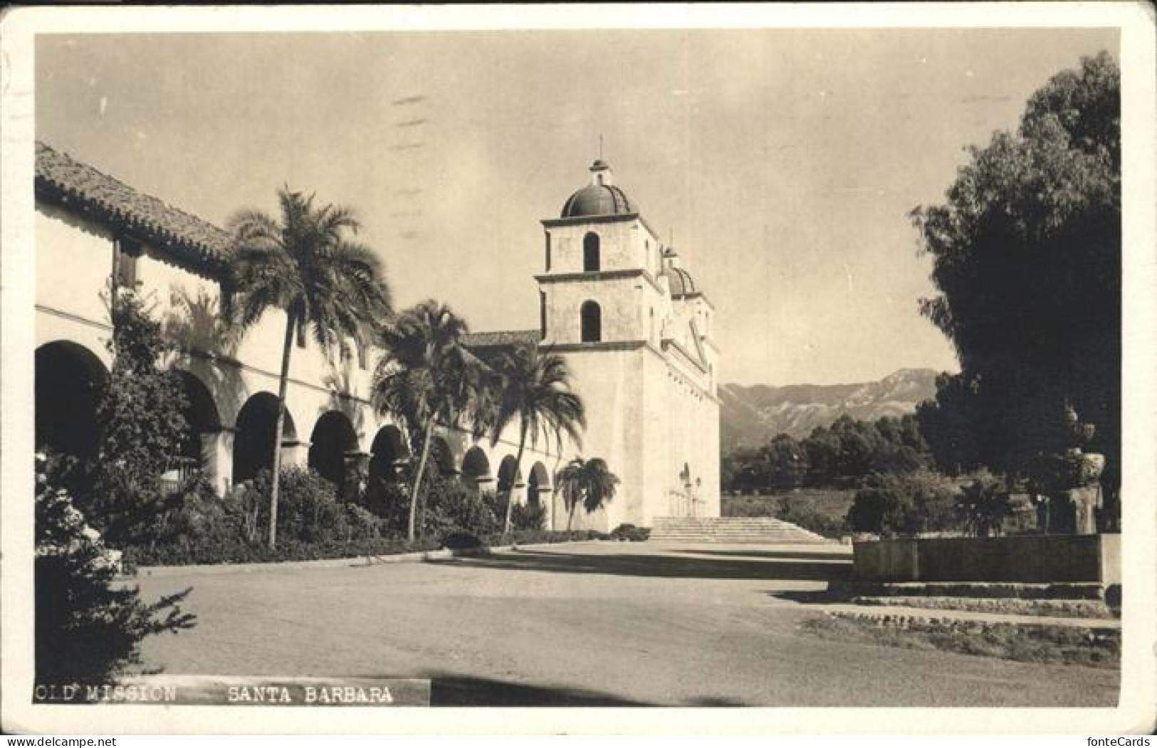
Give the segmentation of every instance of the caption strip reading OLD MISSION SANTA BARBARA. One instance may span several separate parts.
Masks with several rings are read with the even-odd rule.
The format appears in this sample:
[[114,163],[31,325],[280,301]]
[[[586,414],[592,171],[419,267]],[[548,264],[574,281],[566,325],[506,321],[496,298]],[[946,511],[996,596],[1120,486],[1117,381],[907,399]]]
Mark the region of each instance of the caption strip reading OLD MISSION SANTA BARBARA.
[[429,706],[430,681],[415,677],[224,677],[146,675],[117,683],[37,683],[34,704],[200,706]]

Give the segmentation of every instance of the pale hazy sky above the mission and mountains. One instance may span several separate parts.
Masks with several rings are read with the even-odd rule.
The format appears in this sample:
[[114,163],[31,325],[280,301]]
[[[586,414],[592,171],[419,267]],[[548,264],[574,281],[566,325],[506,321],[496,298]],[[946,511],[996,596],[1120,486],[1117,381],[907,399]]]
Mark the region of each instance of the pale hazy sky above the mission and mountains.
[[1113,29],[39,36],[37,138],[223,224],[352,206],[399,308],[538,325],[539,221],[599,155],[716,308],[720,380],[956,370],[907,214]]

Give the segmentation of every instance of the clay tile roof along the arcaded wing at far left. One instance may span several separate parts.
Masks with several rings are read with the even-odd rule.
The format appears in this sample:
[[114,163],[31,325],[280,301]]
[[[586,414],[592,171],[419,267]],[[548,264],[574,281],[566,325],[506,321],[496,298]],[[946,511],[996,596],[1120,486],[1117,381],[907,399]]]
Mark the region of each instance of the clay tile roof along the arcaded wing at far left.
[[39,141],[36,143],[36,194],[76,205],[113,228],[185,260],[220,267],[229,255],[230,237],[223,229],[138,192]]

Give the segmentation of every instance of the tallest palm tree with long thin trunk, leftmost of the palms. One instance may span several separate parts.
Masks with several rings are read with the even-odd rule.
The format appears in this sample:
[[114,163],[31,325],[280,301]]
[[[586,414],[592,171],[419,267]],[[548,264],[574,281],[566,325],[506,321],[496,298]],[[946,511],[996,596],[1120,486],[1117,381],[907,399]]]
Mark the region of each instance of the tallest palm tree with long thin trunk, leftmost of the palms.
[[270,548],[277,545],[280,446],[294,338],[304,340],[308,331],[326,355],[334,346],[347,353],[347,338],[364,341],[392,313],[381,261],[369,247],[346,238],[360,228],[349,208],[315,207],[314,195],[292,192],[288,186],[278,190],[278,202],[280,221],[258,210],[242,210],[229,222],[239,324],[248,329],[270,309],[286,314],[273,432]]

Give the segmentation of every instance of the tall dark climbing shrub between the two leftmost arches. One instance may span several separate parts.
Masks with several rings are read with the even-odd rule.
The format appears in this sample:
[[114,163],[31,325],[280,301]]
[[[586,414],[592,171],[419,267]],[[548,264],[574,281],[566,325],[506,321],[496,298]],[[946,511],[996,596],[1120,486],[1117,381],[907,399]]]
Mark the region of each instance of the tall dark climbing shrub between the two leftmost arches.
[[134,291],[109,296],[112,371],[97,403],[100,446],[78,501],[110,542],[146,536],[164,499],[161,475],[190,438],[177,375],[157,362],[167,346],[161,324]]

